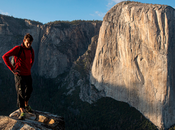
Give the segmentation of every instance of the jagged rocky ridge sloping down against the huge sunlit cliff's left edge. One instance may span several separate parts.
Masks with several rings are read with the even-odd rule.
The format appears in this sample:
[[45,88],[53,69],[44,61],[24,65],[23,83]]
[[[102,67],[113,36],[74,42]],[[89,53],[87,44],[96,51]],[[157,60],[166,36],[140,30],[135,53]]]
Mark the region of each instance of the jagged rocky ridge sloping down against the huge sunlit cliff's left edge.
[[93,103],[104,96],[103,91],[98,91],[90,84],[90,71],[94,60],[98,35],[92,37],[88,50],[80,56],[73,64],[69,74],[64,79],[61,87],[66,87],[67,95],[80,88],[79,98],[84,102]]

